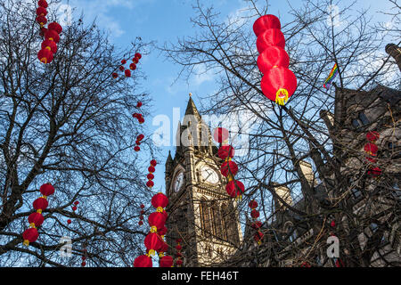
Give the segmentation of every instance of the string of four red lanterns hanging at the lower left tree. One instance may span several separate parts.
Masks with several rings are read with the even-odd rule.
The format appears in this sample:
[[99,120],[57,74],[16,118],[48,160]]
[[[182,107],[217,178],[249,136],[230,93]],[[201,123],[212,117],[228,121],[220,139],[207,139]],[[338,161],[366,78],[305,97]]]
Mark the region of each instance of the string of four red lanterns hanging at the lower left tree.
[[54,187],[51,183],[45,183],[40,186],[39,191],[43,196],[33,202],[33,208],[35,208],[36,212],[28,216],[29,229],[22,233],[23,244],[27,247],[29,246],[29,242],[35,242],[39,237],[37,227],[41,226],[45,221],[42,211],[49,206],[47,197],[53,195]]

